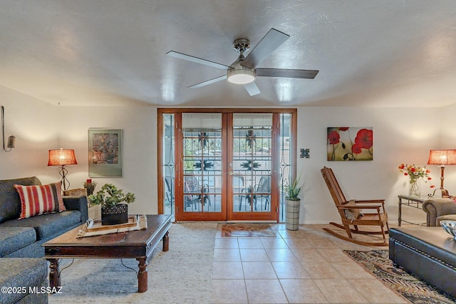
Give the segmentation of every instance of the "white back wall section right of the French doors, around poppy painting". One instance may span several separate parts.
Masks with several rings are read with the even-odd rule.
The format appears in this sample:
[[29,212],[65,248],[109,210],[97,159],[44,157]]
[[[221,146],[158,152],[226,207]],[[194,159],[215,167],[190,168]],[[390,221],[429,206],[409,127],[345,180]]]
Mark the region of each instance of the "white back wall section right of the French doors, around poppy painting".
[[[423,167],[429,150],[439,146],[440,118],[435,108],[299,108],[298,150],[310,149],[310,159],[298,159],[305,184],[301,223],[340,220],[321,168],[331,167],[347,199],[385,199],[388,219],[398,219],[398,194],[408,193],[408,179],[398,166],[404,162]],[[328,162],[327,127],[373,127],[373,161]],[[440,169],[430,168],[432,182]],[[422,195],[431,192],[422,184]],[[424,221],[423,211],[403,209],[403,218]]]

